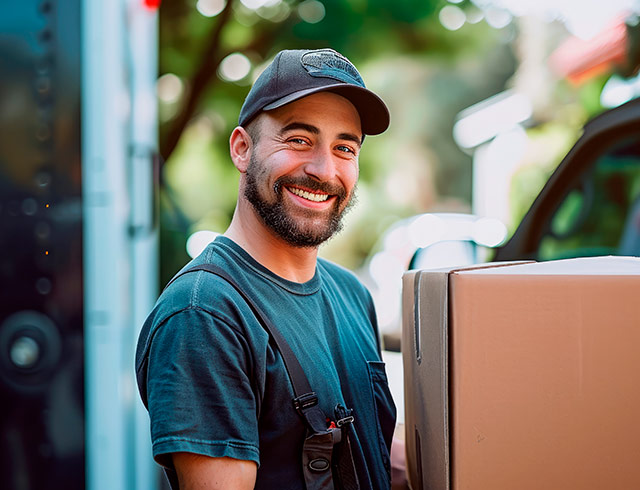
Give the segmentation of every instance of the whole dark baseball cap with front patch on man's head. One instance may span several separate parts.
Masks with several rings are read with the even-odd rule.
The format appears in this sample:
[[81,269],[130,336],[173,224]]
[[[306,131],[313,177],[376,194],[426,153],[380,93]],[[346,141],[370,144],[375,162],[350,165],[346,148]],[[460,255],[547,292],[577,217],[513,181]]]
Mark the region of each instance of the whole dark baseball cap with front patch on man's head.
[[280,51],[251,87],[238,123],[248,124],[261,111],[317,92],[333,92],[351,102],[364,134],[380,134],[389,127],[389,110],[367,89],[356,67],[333,49]]

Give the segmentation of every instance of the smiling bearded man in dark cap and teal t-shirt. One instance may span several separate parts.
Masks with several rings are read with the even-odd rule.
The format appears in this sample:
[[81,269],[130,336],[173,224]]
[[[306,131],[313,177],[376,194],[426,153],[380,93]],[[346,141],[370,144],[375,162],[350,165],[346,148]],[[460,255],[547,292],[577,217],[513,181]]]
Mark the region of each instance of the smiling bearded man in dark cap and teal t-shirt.
[[[345,57],[280,52],[230,137],[240,172],[231,225],[187,266],[222,267],[259,305],[303,367],[327,427],[353,410],[362,489],[390,487],[395,407],[369,293],[317,252],[353,201],[364,135],[388,124]],[[174,488],[305,488],[307,429],[281,353],[227,281],[197,271],[171,283],[143,328],[136,368],[154,457]]]

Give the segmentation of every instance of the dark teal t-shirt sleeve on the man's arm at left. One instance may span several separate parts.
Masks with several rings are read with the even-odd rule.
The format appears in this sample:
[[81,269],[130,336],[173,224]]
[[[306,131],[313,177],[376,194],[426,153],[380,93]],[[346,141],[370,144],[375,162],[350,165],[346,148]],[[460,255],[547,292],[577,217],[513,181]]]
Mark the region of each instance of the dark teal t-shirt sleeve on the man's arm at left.
[[147,393],[153,455],[172,467],[186,451],[259,464],[252,358],[244,336],[198,309],[173,315],[149,350]]

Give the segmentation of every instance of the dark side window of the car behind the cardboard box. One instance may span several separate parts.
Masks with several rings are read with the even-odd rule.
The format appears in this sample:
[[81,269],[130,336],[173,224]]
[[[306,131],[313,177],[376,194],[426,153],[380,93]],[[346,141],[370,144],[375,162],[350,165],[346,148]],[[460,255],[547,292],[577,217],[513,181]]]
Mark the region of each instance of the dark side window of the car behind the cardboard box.
[[596,156],[556,208],[539,259],[640,255],[640,143],[627,138]]

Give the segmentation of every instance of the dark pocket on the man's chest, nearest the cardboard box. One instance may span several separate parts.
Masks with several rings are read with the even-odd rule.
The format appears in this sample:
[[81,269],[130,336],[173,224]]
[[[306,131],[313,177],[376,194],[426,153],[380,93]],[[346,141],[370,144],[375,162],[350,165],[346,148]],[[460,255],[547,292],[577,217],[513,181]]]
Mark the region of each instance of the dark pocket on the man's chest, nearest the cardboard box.
[[384,370],[384,362],[367,361],[369,368],[369,380],[371,389],[373,390],[374,409],[376,411],[376,419],[378,421],[378,442],[380,444],[380,452],[382,460],[387,469],[389,477],[391,477],[391,461],[389,454],[391,452],[391,439],[396,424],[396,407],[389,391],[389,382],[387,374]]

